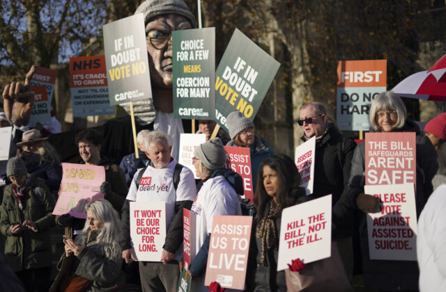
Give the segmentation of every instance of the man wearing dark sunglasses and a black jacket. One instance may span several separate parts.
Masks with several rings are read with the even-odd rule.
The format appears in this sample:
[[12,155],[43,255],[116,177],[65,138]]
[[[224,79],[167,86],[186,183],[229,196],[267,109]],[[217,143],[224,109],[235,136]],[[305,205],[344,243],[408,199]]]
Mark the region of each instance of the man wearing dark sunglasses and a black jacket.
[[309,102],[300,109],[298,124],[304,130],[302,140],[316,136],[314,197],[332,194],[332,240],[337,242],[346,274],[353,274],[353,213],[346,202],[351,159],[356,143],[328,122],[327,111],[319,102]]

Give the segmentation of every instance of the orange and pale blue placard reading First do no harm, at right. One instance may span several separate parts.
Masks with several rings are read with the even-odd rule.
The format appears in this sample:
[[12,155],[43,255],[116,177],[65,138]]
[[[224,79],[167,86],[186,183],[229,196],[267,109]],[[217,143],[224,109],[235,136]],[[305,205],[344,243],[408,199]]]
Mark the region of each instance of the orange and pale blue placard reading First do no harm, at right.
[[387,60],[347,60],[337,64],[336,122],[341,130],[369,131],[369,110],[385,92]]

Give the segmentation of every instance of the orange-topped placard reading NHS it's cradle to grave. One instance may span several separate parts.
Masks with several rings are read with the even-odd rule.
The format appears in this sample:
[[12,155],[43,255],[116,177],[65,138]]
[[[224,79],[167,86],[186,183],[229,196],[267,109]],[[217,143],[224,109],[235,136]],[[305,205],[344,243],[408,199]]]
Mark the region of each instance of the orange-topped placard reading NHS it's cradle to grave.
[[105,56],[70,58],[70,87],[73,117],[114,115],[109,104]]

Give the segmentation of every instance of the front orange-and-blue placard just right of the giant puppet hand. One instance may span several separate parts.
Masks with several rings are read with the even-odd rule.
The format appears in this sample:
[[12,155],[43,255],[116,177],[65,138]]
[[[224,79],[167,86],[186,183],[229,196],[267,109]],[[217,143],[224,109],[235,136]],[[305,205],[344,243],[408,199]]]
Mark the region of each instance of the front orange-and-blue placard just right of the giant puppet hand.
[[47,95],[47,86],[32,86],[34,92],[34,105],[29,117],[29,127],[36,127],[36,123],[51,124],[51,102]]

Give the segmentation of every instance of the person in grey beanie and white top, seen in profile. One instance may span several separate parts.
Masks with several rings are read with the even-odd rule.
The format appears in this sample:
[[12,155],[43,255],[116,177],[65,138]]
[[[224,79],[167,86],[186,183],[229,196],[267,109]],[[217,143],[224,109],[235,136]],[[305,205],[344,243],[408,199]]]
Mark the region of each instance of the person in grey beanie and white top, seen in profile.
[[[226,170],[226,152],[219,138],[208,140],[194,151],[197,177],[204,181],[191,212],[195,215],[195,251],[187,277],[192,275],[191,291],[208,291],[204,272],[208,261],[210,233],[216,215],[242,215],[238,195],[243,193],[243,180]],[[192,235],[193,236],[193,235]]]

